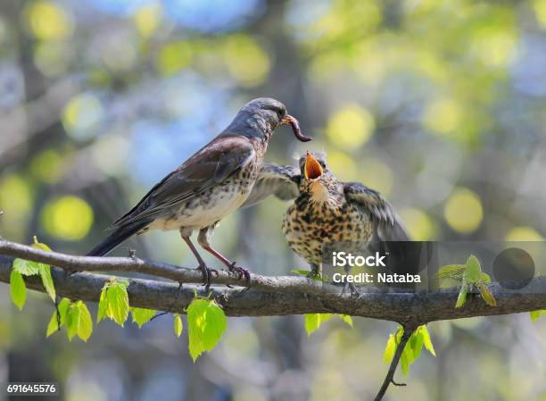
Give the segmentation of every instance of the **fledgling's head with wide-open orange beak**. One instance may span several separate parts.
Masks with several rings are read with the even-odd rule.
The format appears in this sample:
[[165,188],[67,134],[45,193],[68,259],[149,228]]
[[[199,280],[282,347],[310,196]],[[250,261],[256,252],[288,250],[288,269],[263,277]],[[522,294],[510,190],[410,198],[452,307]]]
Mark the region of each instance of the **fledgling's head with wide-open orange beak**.
[[326,154],[307,152],[300,158],[300,192],[310,196],[311,201],[339,203],[343,197],[343,184],[328,170]]

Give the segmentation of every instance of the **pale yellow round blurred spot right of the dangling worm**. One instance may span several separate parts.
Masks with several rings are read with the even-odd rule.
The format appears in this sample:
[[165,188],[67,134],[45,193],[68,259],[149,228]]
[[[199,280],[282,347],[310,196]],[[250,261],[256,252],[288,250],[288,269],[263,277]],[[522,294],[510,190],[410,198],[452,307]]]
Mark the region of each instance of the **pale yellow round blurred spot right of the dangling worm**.
[[352,104],[330,117],[327,135],[335,145],[353,149],[368,142],[375,128],[374,116],[367,109]]

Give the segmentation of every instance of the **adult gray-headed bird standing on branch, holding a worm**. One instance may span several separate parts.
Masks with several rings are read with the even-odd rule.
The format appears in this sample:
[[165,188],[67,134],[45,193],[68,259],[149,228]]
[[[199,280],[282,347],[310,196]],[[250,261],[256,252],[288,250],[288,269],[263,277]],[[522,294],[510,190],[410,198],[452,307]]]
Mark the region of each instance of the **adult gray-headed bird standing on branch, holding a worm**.
[[153,187],[127,214],[114,221],[112,234],[87,255],[106,255],[134,234],[148,230],[179,230],[203,271],[207,288],[211,269],[203,261],[190,236],[230,272],[237,272],[250,286],[248,270],[236,266],[211,246],[212,230],[227,214],[243,205],[258,177],[269,139],[278,126],[287,124],[302,142],[298,121],[285,104],[261,97],[244,104],[218,137],[182,163]]

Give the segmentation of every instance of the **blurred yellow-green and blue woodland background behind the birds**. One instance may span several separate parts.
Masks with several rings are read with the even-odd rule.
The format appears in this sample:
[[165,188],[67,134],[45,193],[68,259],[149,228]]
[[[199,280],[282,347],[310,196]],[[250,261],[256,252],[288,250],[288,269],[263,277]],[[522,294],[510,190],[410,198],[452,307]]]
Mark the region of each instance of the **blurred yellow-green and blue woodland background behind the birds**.
[[[278,129],[270,161],[326,150],[416,239],[546,236],[546,0],[3,0],[0,235],[85,253],[258,96],[315,138]],[[280,231],[286,207],[238,212],[213,243],[253,272],[305,267]],[[174,231],[116,255],[128,247],[194,266]],[[45,340],[45,296],[18,313],[7,289],[0,382],[55,380],[70,401],[368,399],[395,330],[333,320],[306,338],[302,316],[230,319],[194,365],[168,317],[143,330],[103,322],[87,344]],[[438,357],[385,399],[544,401],[545,321],[434,323]]]

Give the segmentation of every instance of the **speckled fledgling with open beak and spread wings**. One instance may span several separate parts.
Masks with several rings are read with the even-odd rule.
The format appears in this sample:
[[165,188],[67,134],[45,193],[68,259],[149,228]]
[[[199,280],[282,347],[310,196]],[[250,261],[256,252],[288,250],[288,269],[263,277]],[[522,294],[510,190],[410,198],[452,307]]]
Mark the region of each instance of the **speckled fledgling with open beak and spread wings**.
[[263,163],[244,207],[269,195],[295,199],[282,224],[288,246],[318,275],[323,246],[335,242],[408,241],[399,215],[384,196],[359,182],[342,182],[329,171],[326,155],[307,155],[300,169]]

